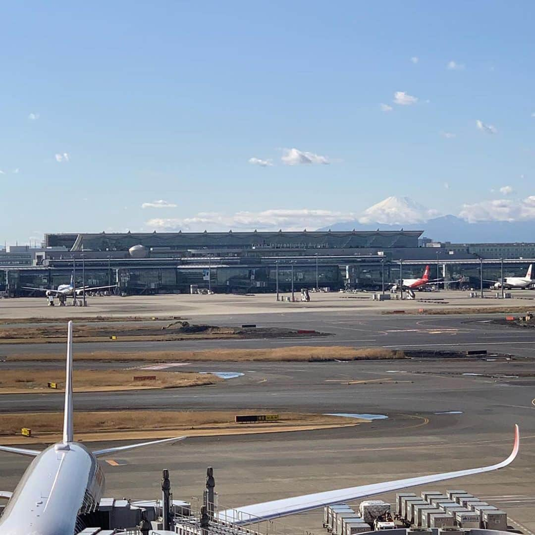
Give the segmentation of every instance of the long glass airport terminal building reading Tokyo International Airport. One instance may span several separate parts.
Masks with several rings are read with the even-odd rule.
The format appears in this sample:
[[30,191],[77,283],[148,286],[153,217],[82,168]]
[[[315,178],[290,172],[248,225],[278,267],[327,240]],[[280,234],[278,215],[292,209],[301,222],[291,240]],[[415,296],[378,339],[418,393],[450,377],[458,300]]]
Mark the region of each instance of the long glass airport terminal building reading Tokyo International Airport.
[[[289,292],[301,288],[378,289],[383,280],[420,277],[479,279],[480,259],[496,259],[507,244],[426,243],[423,231],[176,232],[45,234],[39,249],[0,253],[0,291],[28,295],[22,286],[56,288],[75,273],[77,285],[117,284],[123,294],[212,291]],[[429,242],[429,240],[427,240]],[[425,246],[423,246],[425,245]],[[516,253],[533,244],[508,244]],[[477,250],[476,250],[477,249]],[[486,249],[486,251],[485,251]],[[499,251],[498,251],[499,252]],[[488,254],[487,254],[488,253]],[[535,255],[532,255],[535,256]],[[23,258],[24,257],[24,258]],[[510,274],[525,261],[508,257]],[[525,257],[524,257],[525,258]],[[487,266],[486,277],[498,266]]]

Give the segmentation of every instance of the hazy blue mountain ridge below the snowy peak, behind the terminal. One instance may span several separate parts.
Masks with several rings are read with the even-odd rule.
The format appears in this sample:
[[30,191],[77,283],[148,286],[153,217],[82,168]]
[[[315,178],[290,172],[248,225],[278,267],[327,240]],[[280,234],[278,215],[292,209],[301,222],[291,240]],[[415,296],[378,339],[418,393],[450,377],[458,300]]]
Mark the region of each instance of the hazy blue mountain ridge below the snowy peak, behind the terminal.
[[452,243],[485,242],[534,242],[534,221],[482,221],[469,223],[460,217],[447,215],[419,221],[418,223],[360,223],[358,220],[342,221],[334,225],[319,228],[319,231],[399,231],[423,230],[424,236],[434,241]]

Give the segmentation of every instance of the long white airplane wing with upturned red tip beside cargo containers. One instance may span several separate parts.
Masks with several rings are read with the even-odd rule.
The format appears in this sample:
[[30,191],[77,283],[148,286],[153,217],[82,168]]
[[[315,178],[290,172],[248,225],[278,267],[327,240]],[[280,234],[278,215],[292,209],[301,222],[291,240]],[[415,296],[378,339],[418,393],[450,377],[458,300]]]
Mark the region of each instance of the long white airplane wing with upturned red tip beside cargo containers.
[[457,470],[455,472],[437,473],[430,476],[410,477],[408,479],[398,479],[396,481],[388,481],[385,483],[373,483],[371,485],[342,488],[337,491],[318,492],[315,494],[296,496],[295,498],[285,498],[282,500],[256,503],[255,505],[220,511],[218,513],[218,518],[223,522],[232,524],[252,524],[261,520],[269,520],[272,518],[278,518],[280,516],[303,513],[304,511],[333,505],[334,503],[347,502],[356,500],[357,498],[366,498],[367,496],[397,491],[401,488],[426,485],[428,483],[444,481],[445,479],[453,479],[455,477],[470,476],[476,473],[498,470],[506,467],[508,464],[514,461],[518,453],[519,442],[520,433],[518,430],[518,425],[515,425],[515,442],[513,445],[513,451],[505,461],[497,464],[492,464],[482,468],[471,468],[467,470]]

